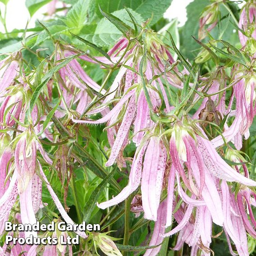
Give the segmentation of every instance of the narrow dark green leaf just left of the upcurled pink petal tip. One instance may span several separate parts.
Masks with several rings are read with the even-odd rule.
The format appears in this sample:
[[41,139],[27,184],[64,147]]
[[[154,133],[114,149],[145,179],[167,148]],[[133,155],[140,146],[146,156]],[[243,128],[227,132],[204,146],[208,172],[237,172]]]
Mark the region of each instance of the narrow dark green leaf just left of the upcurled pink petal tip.
[[87,201],[83,211],[83,220],[86,223],[90,221],[91,213],[96,206],[96,202],[98,201],[98,198],[100,197],[106,185],[110,182],[110,179],[113,177],[114,173],[115,169],[113,169],[112,172],[105,179],[103,179],[101,183],[98,185],[98,187],[96,187],[96,189],[91,193],[91,197]]

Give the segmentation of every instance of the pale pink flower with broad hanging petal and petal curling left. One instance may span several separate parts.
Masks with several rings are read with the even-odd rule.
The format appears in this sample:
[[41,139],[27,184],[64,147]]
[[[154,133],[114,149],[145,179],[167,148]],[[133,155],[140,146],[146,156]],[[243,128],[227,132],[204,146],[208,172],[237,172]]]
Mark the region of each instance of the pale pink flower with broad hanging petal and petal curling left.
[[[144,161],[142,162],[143,156]],[[137,147],[128,185],[116,197],[98,204],[98,207],[105,209],[120,203],[135,191],[141,183],[144,216],[146,219],[156,221],[166,169],[166,160],[167,151],[164,142],[162,139],[152,135],[144,141],[142,146]]]

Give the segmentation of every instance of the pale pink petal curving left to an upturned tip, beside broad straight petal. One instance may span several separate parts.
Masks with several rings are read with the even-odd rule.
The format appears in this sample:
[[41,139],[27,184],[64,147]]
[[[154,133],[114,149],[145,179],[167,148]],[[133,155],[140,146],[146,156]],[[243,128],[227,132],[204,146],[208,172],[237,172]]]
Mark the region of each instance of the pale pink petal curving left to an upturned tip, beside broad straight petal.
[[147,144],[142,146],[141,149],[137,148],[135,152],[133,164],[129,175],[128,185],[124,187],[123,190],[116,197],[113,197],[109,201],[105,201],[103,203],[98,204],[99,208],[106,209],[107,207],[117,205],[120,202],[124,201],[133,191],[137,189],[141,182],[142,158],[146,150],[146,146]]

